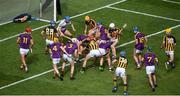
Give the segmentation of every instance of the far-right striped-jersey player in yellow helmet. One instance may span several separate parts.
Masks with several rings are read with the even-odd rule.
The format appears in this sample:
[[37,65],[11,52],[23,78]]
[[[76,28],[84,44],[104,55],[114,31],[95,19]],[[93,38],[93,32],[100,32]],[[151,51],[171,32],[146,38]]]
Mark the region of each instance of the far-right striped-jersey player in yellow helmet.
[[168,57],[167,62],[165,63],[166,69],[168,70],[168,65],[171,65],[172,68],[175,68],[174,62],[174,48],[176,46],[176,39],[171,34],[171,29],[168,28],[165,30],[166,35],[163,38],[161,48],[165,48],[165,53]]

